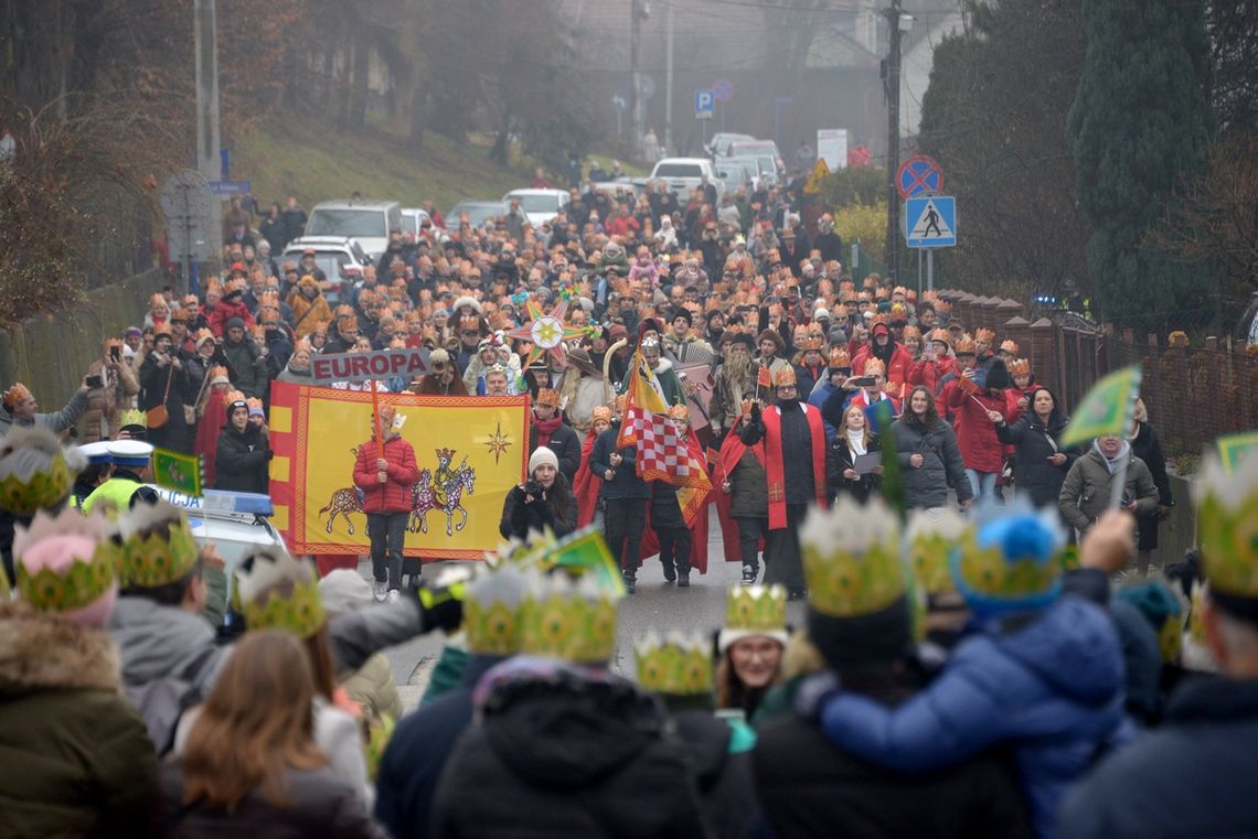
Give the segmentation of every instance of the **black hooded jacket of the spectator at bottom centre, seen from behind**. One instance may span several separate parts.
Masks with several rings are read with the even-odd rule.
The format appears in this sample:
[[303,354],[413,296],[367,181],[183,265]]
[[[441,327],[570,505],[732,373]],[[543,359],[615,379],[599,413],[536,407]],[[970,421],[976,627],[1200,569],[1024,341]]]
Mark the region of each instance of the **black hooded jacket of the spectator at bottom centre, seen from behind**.
[[523,672],[499,679],[481,715],[437,789],[438,839],[706,835],[686,749],[632,682]]

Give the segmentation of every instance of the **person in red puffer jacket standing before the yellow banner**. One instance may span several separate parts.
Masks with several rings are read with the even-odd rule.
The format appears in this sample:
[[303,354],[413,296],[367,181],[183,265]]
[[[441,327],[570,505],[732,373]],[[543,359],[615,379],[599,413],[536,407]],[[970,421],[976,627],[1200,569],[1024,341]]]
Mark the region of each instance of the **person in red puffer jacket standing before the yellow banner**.
[[362,492],[362,511],[367,514],[377,600],[401,597],[401,551],[410,519],[411,487],[419,481],[415,450],[401,438],[405,421],[394,406],[380,406],[379,428],[384,430],[384,443],[376,442],[379,431],[372,422],[371,440],[359,446],[359,460],[353,465],[353,485]]

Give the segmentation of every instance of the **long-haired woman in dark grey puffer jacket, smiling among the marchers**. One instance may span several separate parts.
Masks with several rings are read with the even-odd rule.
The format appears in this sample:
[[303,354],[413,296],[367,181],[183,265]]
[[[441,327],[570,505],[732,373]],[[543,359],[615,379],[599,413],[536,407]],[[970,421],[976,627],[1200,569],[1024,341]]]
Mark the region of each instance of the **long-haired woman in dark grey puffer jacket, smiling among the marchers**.
[[965,474],[961,450],[952,426],[938,416],[935,398],[922,386],[905,399],[905,412],[891,425],[896,435],[896,458],[903,474],[905,502],[910,507],[942,507],[947,491],[967,507],[974,497],[970,476]]

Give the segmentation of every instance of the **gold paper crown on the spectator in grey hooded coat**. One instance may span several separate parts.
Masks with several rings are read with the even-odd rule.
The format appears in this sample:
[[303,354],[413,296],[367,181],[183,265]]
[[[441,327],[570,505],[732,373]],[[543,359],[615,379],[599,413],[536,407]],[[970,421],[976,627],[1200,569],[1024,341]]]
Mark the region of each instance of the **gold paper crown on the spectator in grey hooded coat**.
[[125,585],[151,589],[177,583],[201,554],[187,519],[166,501],[131,507],[118,517],[118,533]]

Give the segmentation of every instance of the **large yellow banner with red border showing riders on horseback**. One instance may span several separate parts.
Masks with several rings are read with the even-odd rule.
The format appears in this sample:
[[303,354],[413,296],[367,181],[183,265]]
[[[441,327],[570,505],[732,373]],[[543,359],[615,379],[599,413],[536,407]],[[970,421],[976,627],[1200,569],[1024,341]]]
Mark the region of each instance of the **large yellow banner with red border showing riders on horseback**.
[[[419,471],[405,554],[482,559],[501,541],[507,491],[523,479],[528,398],[390,393],[380,399],[406,417],[401,437]],[[294,553],[366,554],[371,543],[353,465],[360,446],[375,460],[371,394],[277,383],[272,406],[273,522]]]

